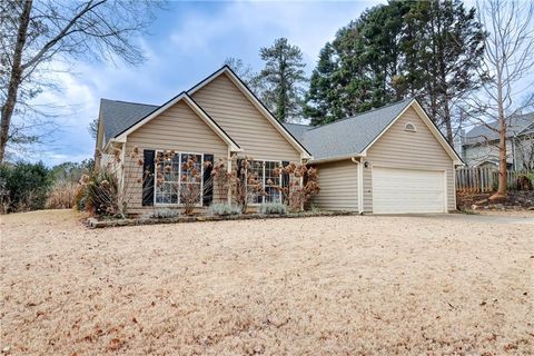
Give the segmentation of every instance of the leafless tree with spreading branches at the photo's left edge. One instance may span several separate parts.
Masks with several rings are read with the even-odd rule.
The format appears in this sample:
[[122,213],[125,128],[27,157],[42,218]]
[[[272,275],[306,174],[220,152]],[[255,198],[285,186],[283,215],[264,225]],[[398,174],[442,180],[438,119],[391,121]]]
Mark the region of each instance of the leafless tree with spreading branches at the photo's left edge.
[[[13,115],[49,82],[42,72],[72,59],[142,62],[138,34],[154,19],[152,1],[0,1],[0,161],[17,136]],[[19,132],[20,134],[20,132]]]

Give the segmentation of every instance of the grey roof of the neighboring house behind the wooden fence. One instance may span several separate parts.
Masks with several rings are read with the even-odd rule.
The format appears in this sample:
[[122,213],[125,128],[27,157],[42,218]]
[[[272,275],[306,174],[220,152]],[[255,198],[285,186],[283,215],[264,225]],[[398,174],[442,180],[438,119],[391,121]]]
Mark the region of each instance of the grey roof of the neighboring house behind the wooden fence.
[[[490,127],[488,127],[490,126]],[[498,132],[491,128],[498,128],[498,121],[487,122],[475,126],[464,137],[464,145],[475,145],[493,140],[498,140]],[[526,135],[534,128],[534,112],[512,116],[508,119],[508,126],[506,128],[506,137],[514,137],[520,135]]]

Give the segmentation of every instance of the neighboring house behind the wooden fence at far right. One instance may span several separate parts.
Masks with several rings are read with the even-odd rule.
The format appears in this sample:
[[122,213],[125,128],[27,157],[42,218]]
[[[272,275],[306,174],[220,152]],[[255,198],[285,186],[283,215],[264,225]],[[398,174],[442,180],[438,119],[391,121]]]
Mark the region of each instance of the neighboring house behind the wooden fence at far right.
[[[467,166],[498,168],[497,121],[481,123],[461,138],[461,156]],[[506,129],[508,169],[534,169],[534,112],[510,119]]]

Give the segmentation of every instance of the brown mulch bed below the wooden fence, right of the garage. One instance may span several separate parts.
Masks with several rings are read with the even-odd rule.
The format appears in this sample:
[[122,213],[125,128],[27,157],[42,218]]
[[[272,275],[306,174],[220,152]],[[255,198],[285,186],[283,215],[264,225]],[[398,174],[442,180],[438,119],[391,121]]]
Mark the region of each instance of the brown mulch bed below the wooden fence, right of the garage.
[[458,192],[459,210],[534,210],[534,190],[510,190],[506,199],[490,201],[493,192]]

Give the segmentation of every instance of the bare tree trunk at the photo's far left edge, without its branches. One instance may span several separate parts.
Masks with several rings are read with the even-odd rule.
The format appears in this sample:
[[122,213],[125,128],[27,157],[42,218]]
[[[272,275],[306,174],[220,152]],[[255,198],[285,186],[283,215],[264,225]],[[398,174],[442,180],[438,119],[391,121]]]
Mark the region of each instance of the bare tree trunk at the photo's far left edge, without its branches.
[[30,22],[32,0],[26,0],[22,6],[22,12],[19,18],[19,31],[17,33],[17,43],[14,46],[13,63],[11,66],[11,77],[9,79],[8,95],[6,103],[2,106],[2,119],[0,123],[0,162],[6,156],[6,145],[9,139],[9,127],[13,116],[14,105],[17,103],[17,93],[19,91],[22,78],[22,50],[28,38],[28,24]]

